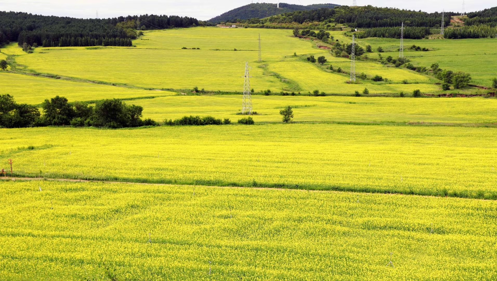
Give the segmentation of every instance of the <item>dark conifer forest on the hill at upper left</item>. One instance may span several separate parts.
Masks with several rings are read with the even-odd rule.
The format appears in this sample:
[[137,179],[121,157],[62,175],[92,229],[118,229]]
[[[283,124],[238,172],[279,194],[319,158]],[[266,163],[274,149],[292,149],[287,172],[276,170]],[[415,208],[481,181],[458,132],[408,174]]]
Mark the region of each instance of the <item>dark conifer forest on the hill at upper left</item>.
[[137,30],[191,27],[195,18],[140,15],[107,19],[33,15],[0,11],[0,44],[18,42],[44,47],[131,46]]

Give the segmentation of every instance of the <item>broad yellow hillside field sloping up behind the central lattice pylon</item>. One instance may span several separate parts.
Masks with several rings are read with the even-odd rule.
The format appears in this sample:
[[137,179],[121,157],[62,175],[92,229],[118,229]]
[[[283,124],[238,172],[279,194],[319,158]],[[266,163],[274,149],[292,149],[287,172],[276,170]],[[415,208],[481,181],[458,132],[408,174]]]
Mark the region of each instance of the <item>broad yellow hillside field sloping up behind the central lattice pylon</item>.
[[[262,63],[257,63],[259,33]],[[209,91],[241,92],[241,77],[245,62],[249,62],[253,76],[251,85],[256,91],[320,90],[330,94],[353,94],[364,87],[370,87],[372,93],[412,92],[414,88],[425,93],[440,91],[427,76],[374,62],[361,62],[357,71],[370,77],[383,75],[391,84],[374,85],[371,81],[362,81],[365,85],[346,84],[347,75],[329,73],[294,58],[293,54],[324,55],[344,71],[350,69],[347,59],[331,56],[310,40],[292,37],[291,30],[198,27],[151,31],[135,44],[136,48],[38,48],[34,54],[18,55],[15,59],[28,71],[157,89],[199,87]],[[201,50],[182,50],[182,47]],[[94,66],[95,61],[98,61],[98,67]],[[405,79],[419,84],[404,85]]]

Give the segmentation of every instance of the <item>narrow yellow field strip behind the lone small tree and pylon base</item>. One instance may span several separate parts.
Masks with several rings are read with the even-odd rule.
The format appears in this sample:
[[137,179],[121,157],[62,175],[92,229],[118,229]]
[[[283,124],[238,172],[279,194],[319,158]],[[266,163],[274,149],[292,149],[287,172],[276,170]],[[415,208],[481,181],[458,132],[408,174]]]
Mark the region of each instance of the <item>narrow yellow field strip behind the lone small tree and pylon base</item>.
[[[144,117],[162,122],[185,115],[211,115],[237,121],[240,95],[166,96],[127,101],[144,107]],[[279,110],[290,105],[295,122],[429,122],[494,124],[497,100],[488,98],[398,98],[254,95],[256,122],[281,122]]]

